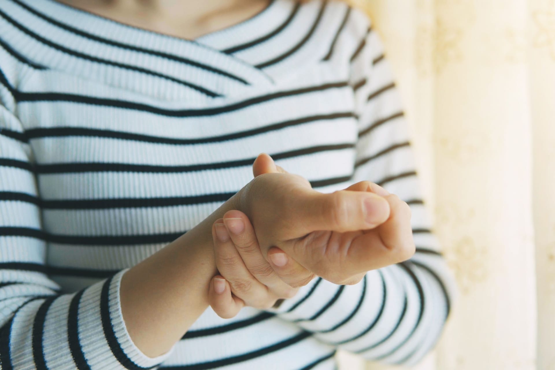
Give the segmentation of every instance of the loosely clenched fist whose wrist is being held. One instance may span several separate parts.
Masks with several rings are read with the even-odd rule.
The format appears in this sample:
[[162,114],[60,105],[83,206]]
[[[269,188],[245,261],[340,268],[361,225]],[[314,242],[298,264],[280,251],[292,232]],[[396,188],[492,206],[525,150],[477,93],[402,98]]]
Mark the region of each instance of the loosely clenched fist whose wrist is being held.
[[[255,176],[260,161],[271,158],[257,158]],[[365,272],[407,260],[415,251],[410,208],[369,181],[322,194],[300,176],[264,173],[236,200],[254,226],[262,255],[293,287],[306,285],[311,277],[280,273],[270,251],[285,252],[282,256],[291,263],[337,284],[359,282]]]

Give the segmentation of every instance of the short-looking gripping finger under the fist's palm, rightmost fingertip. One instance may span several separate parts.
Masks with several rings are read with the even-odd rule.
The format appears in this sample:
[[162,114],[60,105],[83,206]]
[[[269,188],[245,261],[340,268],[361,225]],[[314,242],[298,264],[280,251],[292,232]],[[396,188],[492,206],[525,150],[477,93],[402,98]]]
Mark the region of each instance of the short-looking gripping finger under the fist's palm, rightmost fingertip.
[[[268,250],[268,260],[276,274],[280,277],[280,280],[291,287],[299,288],[305,286],[316,276],[311,271],[302,267],[290,256],[287,256],[287,254],[278,247],[271,247]],[[297,290],[295,289],[291,291],[292,295],[290,297],[284,298],[292,298],[295,296],[296,292]]]

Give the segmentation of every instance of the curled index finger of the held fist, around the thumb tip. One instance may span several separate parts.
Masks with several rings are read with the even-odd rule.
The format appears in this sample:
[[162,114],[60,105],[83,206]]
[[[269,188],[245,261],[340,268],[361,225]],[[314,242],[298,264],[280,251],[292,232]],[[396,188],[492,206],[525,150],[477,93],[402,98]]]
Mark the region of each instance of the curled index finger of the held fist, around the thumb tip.
[[391,209],[388,220],[376,229],[356,236],[350,244],[347,258],[354,263],[353,271],[392,265],[410,259],[415,252],[410,208],[396,195],[388,195],[385,199]]

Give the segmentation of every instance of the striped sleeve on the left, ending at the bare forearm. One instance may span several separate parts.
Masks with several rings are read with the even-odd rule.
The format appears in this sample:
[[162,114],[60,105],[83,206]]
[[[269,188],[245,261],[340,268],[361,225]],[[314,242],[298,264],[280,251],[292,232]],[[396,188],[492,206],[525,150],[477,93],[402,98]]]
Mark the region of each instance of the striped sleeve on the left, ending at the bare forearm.
[[[0,48],[0,59],[8,58]],[[48,278],[33,154],[13,114],[17,73],[0,70],[0,368],[155,367],[167,354],[145,356],[125,328],[119,302],[125,270],[67,294]]]

